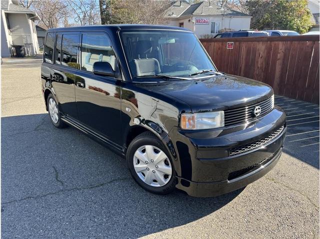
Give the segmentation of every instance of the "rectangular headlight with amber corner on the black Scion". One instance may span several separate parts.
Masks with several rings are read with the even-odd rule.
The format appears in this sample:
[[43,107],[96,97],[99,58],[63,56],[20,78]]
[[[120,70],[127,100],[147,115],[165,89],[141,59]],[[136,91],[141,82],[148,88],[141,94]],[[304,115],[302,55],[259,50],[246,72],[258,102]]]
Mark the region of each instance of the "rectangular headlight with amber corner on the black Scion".
[[224,111],[182,113],[180,125],[183,129],[207,129],[223,127]]

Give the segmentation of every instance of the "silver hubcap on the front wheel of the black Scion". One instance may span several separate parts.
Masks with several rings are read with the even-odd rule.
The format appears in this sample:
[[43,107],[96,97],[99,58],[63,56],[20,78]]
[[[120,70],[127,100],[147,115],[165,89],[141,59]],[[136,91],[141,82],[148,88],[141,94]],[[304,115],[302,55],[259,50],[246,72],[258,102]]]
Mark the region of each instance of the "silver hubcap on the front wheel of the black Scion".
[[143,145],[135,151],[133,166],[139,178],[150,186],[163,186],[171,178],[170,160],[153,145]]

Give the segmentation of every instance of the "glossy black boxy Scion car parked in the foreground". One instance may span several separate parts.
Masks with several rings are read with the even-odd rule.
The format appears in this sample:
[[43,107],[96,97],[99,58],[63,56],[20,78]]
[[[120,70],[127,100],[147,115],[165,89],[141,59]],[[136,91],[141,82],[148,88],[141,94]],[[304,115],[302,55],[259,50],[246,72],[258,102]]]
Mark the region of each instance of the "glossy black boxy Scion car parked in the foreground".
[[226,193],[266,174],[281,154],[285,114],[272,88],[219,72],[187,29],[49,29],[41,78],[53,125],[72,125],[126,157],[153,193]]

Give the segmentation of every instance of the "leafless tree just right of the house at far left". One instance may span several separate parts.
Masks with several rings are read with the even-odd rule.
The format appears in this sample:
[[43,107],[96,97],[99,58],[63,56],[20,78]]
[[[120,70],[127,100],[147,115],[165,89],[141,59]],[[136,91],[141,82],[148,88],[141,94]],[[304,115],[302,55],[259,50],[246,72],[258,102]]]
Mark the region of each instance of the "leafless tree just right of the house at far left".
[[66,4],[62,0],[34,0],[32,9],[39,15],[41,23],[47,28],[58,27],[66,15]]

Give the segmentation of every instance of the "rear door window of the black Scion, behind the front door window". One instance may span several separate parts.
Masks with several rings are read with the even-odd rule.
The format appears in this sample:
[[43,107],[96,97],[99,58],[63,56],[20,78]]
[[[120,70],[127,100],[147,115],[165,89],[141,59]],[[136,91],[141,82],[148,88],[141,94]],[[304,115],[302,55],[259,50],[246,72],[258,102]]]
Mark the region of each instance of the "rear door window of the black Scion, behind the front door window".
[[79,69],[77,61],[79,34],[63,34],[61,64]]

